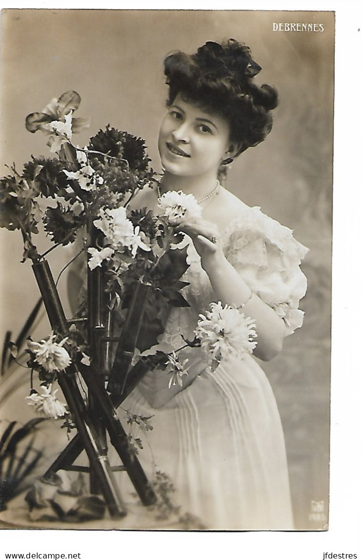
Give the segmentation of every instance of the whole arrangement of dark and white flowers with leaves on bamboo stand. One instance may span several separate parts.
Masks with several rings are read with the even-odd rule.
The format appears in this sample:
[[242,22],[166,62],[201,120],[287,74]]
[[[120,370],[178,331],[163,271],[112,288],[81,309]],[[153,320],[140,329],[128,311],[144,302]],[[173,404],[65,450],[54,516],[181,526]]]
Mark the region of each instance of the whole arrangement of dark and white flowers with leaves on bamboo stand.
[[[26,129],[46,135],[52,157],[32,156],[21,172],[14,165],[0,180],[0,227],[20,230],[22,262],[30,259],[33,264],[53,328],[48,338],[27,342],[27,365],[31,368],[27,402],[40,416],[63,418],[68,430],[74,426],[74,409],[68,400],[75,386],[70,388],[63,374],[69,379],[70,368],[76,363],[87,368],[94,362],[100,367],[100,339],[96,329],[92,330],[92,317],[97,313],[103,318],[106,313],[103,323],[110,325],[113,312],[121,318],[121,335],[107,387],[110,393],[124,398],[125,391],[129,392],[145,372],[155,367],[168,368],[170,387],[182,387],[182,377],[187,375],[187,360],[178,359],[182,348],[169,354],[157,351],[138,361],[135,355],[157,343],[164,329],[165,307],[189,306],[182,294],[187,286],[182,280],[189,266],[187,246],[180,245],[184,235],[176,233],[175,228],[185,218],[200,216],[196,199],[182,192],[164,193],[159,198],[158,215],[147,208],[131,208],[130,201],[139,190],[149,188],[156,180],[144,141],[107,125],[90,138],[87,146],[75,145],[73,134],[89,124],[87,119],[74,116],[80,102],[77,92],[68,91],[51,100],[40,113],[28,115]],[[41,225],[51,242],[43,254],[34,241]],[[68,321],[72,323],[70,329],[65,325],[55,284],[49,281],[50,272],[43,266],[50,251],[73,244],[79,236],[82,248],[74,258],[87,255],[88,269],[87,309],[83,310],[88,321],[86,337],[82,329],[76,328],[76,320]],[[93,300],[97,298],[95,312]],[[108,330],[106,335],[109,344],[112,333]],[[185,346],[200,347],[205,361],[215,370],[232,353],[252,352],[255,337],[250,318],[218,302],[200,315],[195,339],[185,339]],[[9,346],[16,352],[13,343]],[[33,386],[34,371],[39,375],[39,390]],[[123,375],[121,382],[117,378],[119,371]],[[132,375],[134,380],[129,382]],[[63,380],[61,388],[67,403],[57,399],[57,380]],[[97,392],[95,381],[91,382]],[[116,400],[117,404],[121,400]],[[105,400],[102,403],[106,406]],[[80,416],[82,406],[78,402]],[[75,424],[79,431],[79,418]]]

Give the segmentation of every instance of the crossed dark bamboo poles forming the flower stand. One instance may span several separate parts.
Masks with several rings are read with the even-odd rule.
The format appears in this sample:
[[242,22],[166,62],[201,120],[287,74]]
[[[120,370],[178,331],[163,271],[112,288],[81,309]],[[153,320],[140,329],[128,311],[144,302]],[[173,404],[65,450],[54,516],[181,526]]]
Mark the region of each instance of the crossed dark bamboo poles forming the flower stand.
[[[34,263],[32,268],[44,300],[51,328],[60,336],[67,337],[69,335],[68,323],[48,262],[43,260]],[[121,372],[121,376],[124,377],[122,390],[117,395],[107,393],[105,375],[102,375],[100,368],[107,370],[106,364],[102,363],[102,356],[109,356],[109,352],[108,354],[101,352],[101,345],[104,342],[110,343],[110,333],[106,332],[105,326],[109,327],[109,318],[105,323],[102,317],[103,310],[106,309],[102,300],[100,271],[91,271],[88,276],[88,313],[90,314],[88,316],[88,336],[90,337],[92,365],[83,365],[82,356],[79,356],[65,372],[58,373],[59,386],[63,391],[78,433],[50,466],[44,477],[50,479],[59,469],[90,472],[91,492],[100,492],[104,496],[111,516],[119,517],[126,514],[126,509],[115,483],[114,470],[126,471],[144,505],[153,504],[156,501],[156,494],[149,486],[137,457],[129,451],[126,433],[116,412],[116,407],[142,379],[146,370],[140,363],[138,367],[133,368],[134,375],[132,376],[127,376],[127,371]],[[76,382],[77,374],[82,376],[87,385],[88,407],[84,404],[79,391]],[[107,436],[122,462],[119,467],[110,466],[107,456]],[[83,449],[86,450],[89,466],[73,465],[74,460]]]

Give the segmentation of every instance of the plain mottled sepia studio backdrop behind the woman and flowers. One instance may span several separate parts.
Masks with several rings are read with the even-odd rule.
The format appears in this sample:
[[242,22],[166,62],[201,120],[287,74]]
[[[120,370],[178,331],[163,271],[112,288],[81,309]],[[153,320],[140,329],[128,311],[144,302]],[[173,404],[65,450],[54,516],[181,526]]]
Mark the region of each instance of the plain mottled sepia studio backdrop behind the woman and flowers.
[[[322,24],[324,31],[274,31],[275,22]],[[110,123],[144,138],[154,169],[161,171],[157,134],[167,95],[163,58],[173,50],[191,53],[207,40],[244,41],[262,67],[257,83],[278,89],[271,134],[234,162],[225,186],[292,228],[310,249],[302,267],[308,278],[301,304],[304,326],[285,340],[280,356],[262,366],[284,426],[298,529],[321,529],[327,522],[334,25],[332,12],[2,13],[2,175],[5,164],[15,162],[21,171],[31,155],[49,155],[45,136],[27,132],[25,117],[68,90],[82,98],[76,116],[91,117],[90,128],[73,137],[76,144],[84,146]],[[6,330],[16,336],[39,294],[30,263],[20,263],[20,233],[1,230],[0,236],[1,341]],[[45,250],[48,241],[36,245]],[[55,277],[71,256],[71,248],[50,254]],[[60,293],[69,315],[65,274]],[[48,333],[44,319],[35,338]],[[15,375],[0,393],[0,414],[24,421],[31,416],[23,401],[29,373]]]

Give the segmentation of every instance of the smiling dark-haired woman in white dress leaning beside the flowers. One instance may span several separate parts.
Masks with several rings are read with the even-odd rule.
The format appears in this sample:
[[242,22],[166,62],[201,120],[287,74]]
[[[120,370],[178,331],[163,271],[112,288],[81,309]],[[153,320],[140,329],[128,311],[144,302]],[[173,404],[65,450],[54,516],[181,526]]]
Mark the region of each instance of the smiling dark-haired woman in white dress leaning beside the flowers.
[[[274,88],[257,86],[250,49],[231,39],[164,62],[169,97],[159,131],[164,173],[134,200],[157,212],[170,190],[193,194],[202,218],[182,222],[190,267],[182,290],[190,307],[172,308],[156,347],[171,352],[192,339],[211,301],[236,306],[256,324],[254,356],[270,360],[301,326],[306,290],[299,264],[307,249],[292,232],[250,208],[218,182],[220,169],[271,130]],[[155,348],[153,348],[153,351]],[[149,372],[123,404],[153,416],[151,449],[140,460],[175,486],[175,503],[208,529],[292,529],[283,430],[275,398],[252,356],[230,358],[211,372],[197,348],[185,350],[182,388]],[[180,360],[182,361],[182,358]]]

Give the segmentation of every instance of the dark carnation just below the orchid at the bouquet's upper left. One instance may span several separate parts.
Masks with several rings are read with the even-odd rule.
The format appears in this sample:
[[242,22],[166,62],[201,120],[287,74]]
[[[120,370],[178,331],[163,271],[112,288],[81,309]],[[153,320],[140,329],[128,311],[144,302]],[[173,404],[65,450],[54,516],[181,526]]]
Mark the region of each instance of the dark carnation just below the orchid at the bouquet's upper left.
[[[40,171],[37,172],[40,167]],[[24,165],[23,178],[34,181],[44,197],[63,196],[67,186],[67,177],[63,173],[63,165],[60,161],[42,156],[32,156],[32,161]]]

